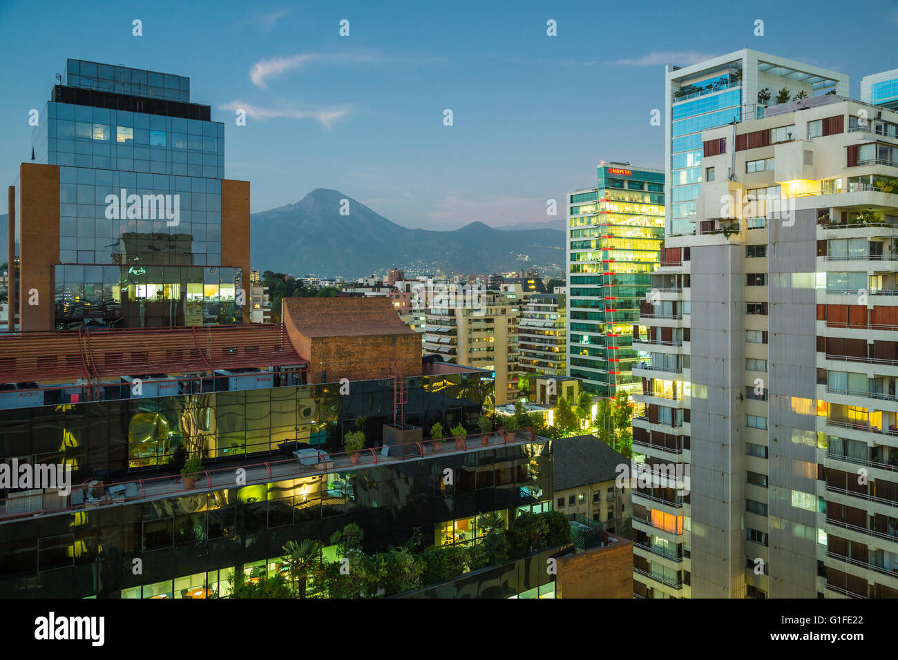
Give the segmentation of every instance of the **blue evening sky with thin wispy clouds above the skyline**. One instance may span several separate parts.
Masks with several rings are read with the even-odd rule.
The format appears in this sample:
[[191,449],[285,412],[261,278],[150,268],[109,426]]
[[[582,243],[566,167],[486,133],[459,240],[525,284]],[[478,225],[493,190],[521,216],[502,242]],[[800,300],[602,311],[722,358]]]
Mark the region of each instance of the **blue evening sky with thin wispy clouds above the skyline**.
[[898,66],[894,1],[876,17],[842,2],[561,5],[0,2],[0,175],[30,157],[28,110],[75,57],[189,76],[253,212],[333,188],[409,227],[544,221],[602,160],[663,166],[649,114],[665,64],[756,48],[847,73],[855,97],[863,75]]

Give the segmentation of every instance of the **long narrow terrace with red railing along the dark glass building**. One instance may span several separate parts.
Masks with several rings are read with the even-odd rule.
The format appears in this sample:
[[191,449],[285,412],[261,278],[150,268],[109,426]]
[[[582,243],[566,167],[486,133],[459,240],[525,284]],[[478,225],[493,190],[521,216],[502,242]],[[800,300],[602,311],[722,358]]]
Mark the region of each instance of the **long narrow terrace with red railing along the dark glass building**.
[[[391,444],[389,455],[365,448],[359,452],[326,453],[319,452],[311,456],[315,462],[308,462],[306,457],[291,458],[282,461],[248,463],[240,466],[203,470],[197,473],[195,488],[185,488],[180,475],[167,475],[150,479],[136,479],[113,484],[103,484],[91,480],[73,486],[68,495],[57,492],[44,492],[20,497],[0,499],[0,520],[29,518],[40,515],[57,515],[73,511],[90,511],[93,508],[119,506],[137,502],[149,502],[165,497],[186,497],[210,490],[234,487],[234,474],[237,467],[245,471],[245,485],[264,484],[272,481],[299,479],[331,472],[362,470],[379,465],[390,465],[407,461],[418,461],[433,458],[437,455],[483,451],[499,447],[531,444],[536,442],[536,434],[531,427],[522,427],[515,431],[493,433],[487,436],[487,444],[482,444],[480,433],[465,436],[461,441],[456,438],[438,438],[421,440],[405,444]],[[453,440],[453,444],[447,441]],[[463,448],[462,448],[463,444]],[[445,450],[445,451],[444,451]],[[354,456],[354,454],[357,454]],[[243,484],[242,484],[243,485]],[[25,500],[28,500],[27,502]],[[39,503],[40,500],[40,503]],[[33,504],[32,504],[33,503]],[[45,506],[49,503],[51,506]],[[22,509],[26,510],[22,510]]]

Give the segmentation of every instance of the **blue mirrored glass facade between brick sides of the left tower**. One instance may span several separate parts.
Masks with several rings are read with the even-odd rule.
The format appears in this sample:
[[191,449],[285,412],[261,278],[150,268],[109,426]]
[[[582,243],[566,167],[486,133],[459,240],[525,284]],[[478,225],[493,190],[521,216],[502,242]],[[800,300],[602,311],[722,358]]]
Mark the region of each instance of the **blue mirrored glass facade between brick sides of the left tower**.
[[59,166],[57,329],[240,322],[241,269],[221,262],[225,125],[175,116],[208,116],[189,101],[189,78],[68,60],[32,134],[35,161]]

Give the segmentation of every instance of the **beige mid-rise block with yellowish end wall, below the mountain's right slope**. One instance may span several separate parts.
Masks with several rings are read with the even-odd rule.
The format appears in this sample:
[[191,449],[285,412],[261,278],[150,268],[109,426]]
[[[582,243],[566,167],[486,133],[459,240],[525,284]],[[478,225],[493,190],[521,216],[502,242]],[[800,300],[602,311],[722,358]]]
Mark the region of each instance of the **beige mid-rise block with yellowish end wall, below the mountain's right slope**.
[[462,294],[458,296],[427,308],[425,352],[439,354],[455,365],[495,372],[495,404],[514,403],[520,305],[513,295],[492,291],[481,291],[473,304],[464,304]]

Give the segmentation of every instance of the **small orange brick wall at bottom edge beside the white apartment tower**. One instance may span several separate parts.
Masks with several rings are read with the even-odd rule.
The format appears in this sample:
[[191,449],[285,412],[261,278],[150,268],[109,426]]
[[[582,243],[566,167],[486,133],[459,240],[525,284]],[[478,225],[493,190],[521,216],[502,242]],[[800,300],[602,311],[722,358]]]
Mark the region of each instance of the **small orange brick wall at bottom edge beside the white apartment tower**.
[[558,558],[556,598],[632,598],[633,541]]

